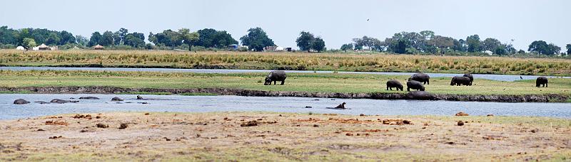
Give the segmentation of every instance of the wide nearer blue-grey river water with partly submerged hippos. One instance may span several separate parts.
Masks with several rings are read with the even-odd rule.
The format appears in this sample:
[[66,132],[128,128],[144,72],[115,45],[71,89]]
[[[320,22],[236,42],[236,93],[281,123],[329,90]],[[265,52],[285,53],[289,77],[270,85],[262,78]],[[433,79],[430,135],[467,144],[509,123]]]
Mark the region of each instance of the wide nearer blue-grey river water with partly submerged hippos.
[[[38,104],[51,99],[84,96],[101,100],[81,100],[79,103]],[[111,102],[112,97],[125,99]],[[495,114],[500,116],[535,116],[571,118],[571,103],[501,103],[450,102],[380,99],[327,99],[310,97],[241,97],[241,96],[179,96],[143,95],[144,98],[171,100],[136,100],[136,95],[61,95],[61,94],[3,94],[0,95],[0,119],[21,119],[54,114],[95,112],[298,112],[335,114],[381,115],[446,115],[466,112],[470,115]],[[15,99],[26,99],[30,104],[12,104]],[[315,100],[319,99],[319,100]],[[126,103],[133,102],[133,103]],[[148,102],[139,104],[137,102]],[[326,109],[347,102],[350,109]],[[310,106],[313,108],[305,108]]]

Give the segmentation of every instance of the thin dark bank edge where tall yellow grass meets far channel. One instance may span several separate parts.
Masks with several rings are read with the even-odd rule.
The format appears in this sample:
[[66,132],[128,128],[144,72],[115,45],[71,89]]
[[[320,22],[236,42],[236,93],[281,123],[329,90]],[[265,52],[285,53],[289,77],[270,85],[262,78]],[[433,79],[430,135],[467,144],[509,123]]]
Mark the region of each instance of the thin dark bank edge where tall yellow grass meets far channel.
[[[305,66],[273,66],[271,68],[265,68],[261,66],[238,66],[238,65],[191,65],[191,66],[179,66],[179,65],[102,65],[102,64],[61,64],[61,65],[19,65],[19,64],[0,64],[0,67],[49,67],[49,68],[143,68],[143,69],[213,69],[213,70],[305,70],[305,71],[333,71],[333,72],[418,72],[416,70],[385,70],[385,71],[375,71],[375,70],[330,70],[330,69],[308,69]],[[430,71],[428,73],[443,73],[443,74],[456,74],[463,73],[461,71],[444,70],[444,71]],[[482,71],[482,72],[470,72],[471,74],[480,75],[538,75],[538,76],[554,76],[554,77],[571,77],[571,75],[565,75],[560,73],[553,74],[537,74],[537,73],[515,73],[515,72],[505,72],[497,73],[492,71]]]

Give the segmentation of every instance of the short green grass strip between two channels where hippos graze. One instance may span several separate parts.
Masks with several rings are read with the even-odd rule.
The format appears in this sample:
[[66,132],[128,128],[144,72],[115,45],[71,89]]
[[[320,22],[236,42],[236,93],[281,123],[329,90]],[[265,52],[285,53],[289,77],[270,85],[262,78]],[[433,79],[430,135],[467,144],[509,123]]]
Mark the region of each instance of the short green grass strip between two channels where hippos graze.
[[[89,72],[0,71],[0,87],[108,86],[130,88],[237,88],[288,92],[384,92],[405,93],[409,76],[366,74],[289,73],[285,85],[263,85],[266,73],[205,74],[191,72]],[[405,91],[387,91],[385,82],[400,80]],[[552,78],[549,87],[535,87],[535,80],[501,82],[475,80],[473,86],[450,86],[450,78],[431,78],[428,92],[453,95],[571,95],[569,79]],[[161,94],[168,95],[168,94]]]

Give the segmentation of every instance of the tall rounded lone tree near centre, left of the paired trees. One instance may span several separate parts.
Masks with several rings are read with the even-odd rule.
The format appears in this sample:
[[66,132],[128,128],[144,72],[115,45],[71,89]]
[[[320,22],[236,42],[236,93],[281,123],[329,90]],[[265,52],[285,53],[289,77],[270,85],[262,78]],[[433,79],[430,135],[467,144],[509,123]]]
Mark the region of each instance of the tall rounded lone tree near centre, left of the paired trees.
[[256,51],[262,51],[266,46],[276,45],[271,38],[268,38],[266,32],[259,27],[248,29],[248,34],[242,36],[240,41],[242,41],[243,45],[248,45],[250,49]]

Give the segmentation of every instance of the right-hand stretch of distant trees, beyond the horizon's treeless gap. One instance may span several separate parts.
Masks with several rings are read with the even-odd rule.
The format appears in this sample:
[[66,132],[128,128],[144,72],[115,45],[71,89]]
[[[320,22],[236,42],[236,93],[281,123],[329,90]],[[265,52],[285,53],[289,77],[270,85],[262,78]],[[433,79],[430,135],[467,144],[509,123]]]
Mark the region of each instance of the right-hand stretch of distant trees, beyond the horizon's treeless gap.
[[[513,41],[513,40],[512,40]],[[483,41],[477,34],[464,39],[455,39],[446,36],[435,35],[433,31],[400,32],[391,38],[380,41],[377,38],[363,36],[353,38],[353,43],[341,45],[340,50],[375,50],[390,53],[482,53],[490,51],[497,55],[509,55],[525,53],[524,50],[516,50],[511,43],[502,43],[495,38],[485,38]],[[560,47],[545,41],[534,41],[527,49],[531,53],[540,55],[557,55]],[[567,53],[571,53],[571,44],[567,44]]]

